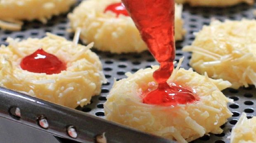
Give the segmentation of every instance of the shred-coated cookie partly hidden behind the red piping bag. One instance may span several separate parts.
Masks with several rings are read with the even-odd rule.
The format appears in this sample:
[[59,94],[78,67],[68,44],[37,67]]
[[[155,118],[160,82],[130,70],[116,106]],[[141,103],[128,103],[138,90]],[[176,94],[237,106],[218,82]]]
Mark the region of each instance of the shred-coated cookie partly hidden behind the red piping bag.
[[[81,28],[81,40],[84,43],[95,42],[95,48],[111,53],[142,52],[147,50],[130,16],[105,9],[121,0],[85,0],[73,13],[68,15],[71,28]],[[176,5],[175,39],[181,40],[185,31],[181,19],[182,5]]]

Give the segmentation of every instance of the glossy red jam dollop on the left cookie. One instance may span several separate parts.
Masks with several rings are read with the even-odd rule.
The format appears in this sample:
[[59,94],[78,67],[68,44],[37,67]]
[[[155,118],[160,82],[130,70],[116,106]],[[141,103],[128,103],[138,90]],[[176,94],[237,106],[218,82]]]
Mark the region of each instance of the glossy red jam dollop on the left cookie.
[[42,48],[21,60],[21,69],[45,74],[59,74],[66,70],[66,64]]

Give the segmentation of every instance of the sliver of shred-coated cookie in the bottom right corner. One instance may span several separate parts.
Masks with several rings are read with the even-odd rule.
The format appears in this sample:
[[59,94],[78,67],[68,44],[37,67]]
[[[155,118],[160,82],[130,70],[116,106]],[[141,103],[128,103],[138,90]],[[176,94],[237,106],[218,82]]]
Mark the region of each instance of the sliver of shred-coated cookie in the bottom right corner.
[[231,132],[231,143],[256,143],[256,117],[247,119],[242,113]]

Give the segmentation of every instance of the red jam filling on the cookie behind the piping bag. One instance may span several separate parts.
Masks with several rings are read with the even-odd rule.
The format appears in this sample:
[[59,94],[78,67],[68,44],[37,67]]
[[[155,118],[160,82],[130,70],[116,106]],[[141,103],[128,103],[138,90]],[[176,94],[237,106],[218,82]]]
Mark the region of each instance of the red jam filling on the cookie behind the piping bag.
[[104,10],[104,12],[107,12],[107,11],[116,13],[116,17],[118,17],[120,14],[129,16],[129,14],[126,10],[126,7],[124,7],[122,2],[114,3],[114,4],[107,6],[107,8]]

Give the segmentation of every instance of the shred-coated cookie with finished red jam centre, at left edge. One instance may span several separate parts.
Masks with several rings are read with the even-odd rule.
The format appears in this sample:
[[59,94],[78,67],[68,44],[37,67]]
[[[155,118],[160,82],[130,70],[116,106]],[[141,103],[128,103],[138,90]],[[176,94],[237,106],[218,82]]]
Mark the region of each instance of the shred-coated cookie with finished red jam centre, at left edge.
[[[90,50],[92,44],[77,45],[50,33],[43,39],[8,38],[7,42],[9,46],[0,47],[0,86],[71,108],[84,106],[90,103],[93,95],[100,94],[105,78],[99,57]],[[64,63],[59,74],[37,73],[37,63],[26,61],[38,49],[52,54],[49,56],[55,55]],[[34,59],[45,57],[37,53]],[[47,65],[40,66],[47,68]],[[29,66],[35,67],[35,71],[24,69]]]

